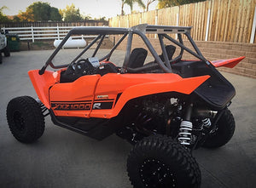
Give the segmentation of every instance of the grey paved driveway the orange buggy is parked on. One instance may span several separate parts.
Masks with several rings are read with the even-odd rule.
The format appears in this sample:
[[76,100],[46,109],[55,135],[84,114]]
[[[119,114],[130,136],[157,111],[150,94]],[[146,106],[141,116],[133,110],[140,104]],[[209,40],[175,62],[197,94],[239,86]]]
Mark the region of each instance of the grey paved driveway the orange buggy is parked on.
[[[16,141],[7,127],[5,109],[20,95],[36,97],[27,71],[43,66],[51,51],[12,53],[0,65],[0,187],[129,188],[126,157],[131,145],[113,135],[91,140],[46,118],[40,140],[32,145]],[[59,59],[68,60],[74,50]],[[124,55],[119,52],[117,58]],[[217,150],[199,149],[194,155],[202,173],[202,187],[245,188],[256,185],[256,83],[255,79],[224,73],[236,87],[230,110],[236,118],[236,133]]]

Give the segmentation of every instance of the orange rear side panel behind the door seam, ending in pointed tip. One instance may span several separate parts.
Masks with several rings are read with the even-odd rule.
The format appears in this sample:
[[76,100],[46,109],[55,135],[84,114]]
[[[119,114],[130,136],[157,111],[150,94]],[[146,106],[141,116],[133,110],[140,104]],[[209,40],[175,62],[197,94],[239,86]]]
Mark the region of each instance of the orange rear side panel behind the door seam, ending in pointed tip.
[[[109,77],[111,77],[109,75]],[[108,95],[113,94],[113,91],[117,93],[122,93],[119,100],[116,102],[112,110],[102,111],[102,110],[92,110],[90,117],[101,117],[101,118],[111,118],[119,114],[126,102],[131,99],[141,97],[148,94],[160,94],[165,92],[179,92],[183,94],[191,94],[195,88],[204,83],[210,76],[202,77],[191,77],[182,78],[177,74],[165,73],[165,74],[124,74],[116,75],[116,77],[111,77],[115,80],[116,84],[113,86],[108,85],[108,77],[99,81],[96,88],[96,95]],[[116,79],[115,79],[116,78]],[[133,79],[132,79],[133,78]],[[131,83],[130,83],[131,81]],[[132,84],[133,83],[133,84]],[[123,84],[126,84],[126,88]],[[105,88],[106,86],[106,88]],[[117,90],[116,88],[124,89],[123,91]],[[116,87],[116,88],[114,88]],[[124,87],[124,88],[123,88]]]

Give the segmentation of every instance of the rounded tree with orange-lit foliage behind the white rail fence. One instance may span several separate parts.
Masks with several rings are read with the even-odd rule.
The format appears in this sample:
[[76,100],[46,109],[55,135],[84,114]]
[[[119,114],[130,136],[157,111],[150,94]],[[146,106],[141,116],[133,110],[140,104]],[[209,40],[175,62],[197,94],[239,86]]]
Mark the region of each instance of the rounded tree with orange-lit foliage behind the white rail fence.
[[[61,14],[55,7],[51,7],[49,3],[36,2],[26,8],[26,12],[17,15],[20,21],[60,21]],[[16,19],[16,20],[18,20]]]

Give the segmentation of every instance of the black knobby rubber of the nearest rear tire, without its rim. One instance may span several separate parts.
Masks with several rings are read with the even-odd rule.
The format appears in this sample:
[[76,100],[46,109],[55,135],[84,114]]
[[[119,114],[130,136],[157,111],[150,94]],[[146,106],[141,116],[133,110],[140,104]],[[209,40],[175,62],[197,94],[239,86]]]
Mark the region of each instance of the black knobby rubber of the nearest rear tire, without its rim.
[[172,167],[177,179],[175,187],[200,187],[201,171],[195,157],[192,157],[189,149],[166,135],[146,137],[131,150],[127,159],[127,171],[134,187],[144,187],[138,175],[138,166],[148,157],[164,161]]

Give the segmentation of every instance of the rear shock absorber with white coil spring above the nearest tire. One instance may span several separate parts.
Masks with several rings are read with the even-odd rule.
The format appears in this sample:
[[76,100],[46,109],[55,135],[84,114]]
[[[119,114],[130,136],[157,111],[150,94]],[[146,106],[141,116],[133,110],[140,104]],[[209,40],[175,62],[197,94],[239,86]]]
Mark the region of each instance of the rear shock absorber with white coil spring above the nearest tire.
[[187,106],[186,115],[183,118],[184,120],[180,123],[177,140],[180,142],[181,145],[190,145],[191,143],[191,138],[192,138],[191,132],[192,132],[193,124],[190,121],[190,118],[191,118],[192,110],[193,110],[193,104],[190,103]]

